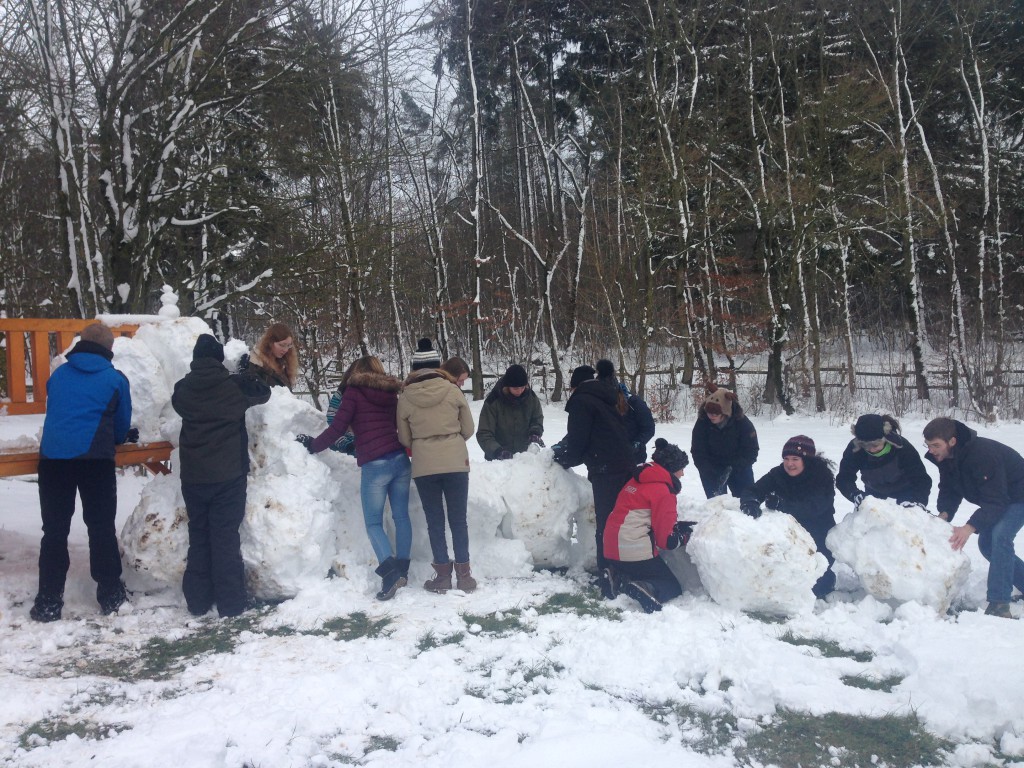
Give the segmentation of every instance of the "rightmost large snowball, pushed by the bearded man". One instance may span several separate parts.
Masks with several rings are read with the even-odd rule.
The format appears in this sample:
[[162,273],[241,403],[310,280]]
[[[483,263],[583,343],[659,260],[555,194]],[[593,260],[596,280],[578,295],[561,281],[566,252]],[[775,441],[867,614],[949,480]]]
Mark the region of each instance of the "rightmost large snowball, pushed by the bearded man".
[[918,507],[866,499],[828,532],[836,559],[880,600],[916,600],[945,612],[971,563],[949,546],[952,526]]

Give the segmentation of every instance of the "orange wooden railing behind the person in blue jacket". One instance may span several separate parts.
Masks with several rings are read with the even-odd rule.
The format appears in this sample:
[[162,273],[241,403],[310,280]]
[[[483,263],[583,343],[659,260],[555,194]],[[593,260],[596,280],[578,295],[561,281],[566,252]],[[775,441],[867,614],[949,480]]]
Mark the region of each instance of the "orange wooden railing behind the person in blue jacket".
[[[95,321],[45,317],[0,318],[0,332],[6,340],[7,352],[7,397],[0,400],[0,408],[6,408],[11,416],[46,413],[50,359],[71,346],[82,329],[93,323]],[[111,328],[115,336],[134,336],[137,330],[138,326]],[[52,354],[51,341],[55,344]],[[32,399],[29,399],[30,392]]]

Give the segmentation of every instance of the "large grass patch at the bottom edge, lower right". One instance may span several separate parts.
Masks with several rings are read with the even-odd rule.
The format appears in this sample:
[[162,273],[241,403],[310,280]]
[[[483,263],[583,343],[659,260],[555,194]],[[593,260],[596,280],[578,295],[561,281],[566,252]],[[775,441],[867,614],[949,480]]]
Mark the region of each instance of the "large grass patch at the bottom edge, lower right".
[[951,749],[926,731],[916,715],[814,716],[779,710],[770,725],[746,737],[737,757],[783,766],[910,768],[943,765]]

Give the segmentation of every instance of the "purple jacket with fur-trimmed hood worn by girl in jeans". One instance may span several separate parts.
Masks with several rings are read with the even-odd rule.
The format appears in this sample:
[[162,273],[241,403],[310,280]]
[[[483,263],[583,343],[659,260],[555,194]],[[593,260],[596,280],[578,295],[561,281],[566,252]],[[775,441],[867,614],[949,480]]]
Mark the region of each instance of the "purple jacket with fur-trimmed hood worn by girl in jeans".
[[355,463],[362,466],[395,451],[406,449],[398,441],[398,390],[401,382],[393,376],[354,374],[348,380],[331,426],[312,442],[314,454],[334,444],[351,426],[355,435]]

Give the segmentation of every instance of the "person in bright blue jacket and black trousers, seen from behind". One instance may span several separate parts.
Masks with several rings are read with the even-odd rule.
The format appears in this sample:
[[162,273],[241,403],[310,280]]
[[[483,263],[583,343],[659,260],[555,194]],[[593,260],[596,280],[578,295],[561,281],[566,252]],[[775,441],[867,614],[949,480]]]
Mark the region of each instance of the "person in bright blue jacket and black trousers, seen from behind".
[[100,324],[87,326],[46,385],[46,419],[39,449],[39,508],[43,540],[39,546],[39,592],[29,615],[55,622],[63,608],[71,558],[68,534],[75,495],[89,531],[89,572],[96,600],[113,613],[128,599],[121,581],[121,553],[114,520],[118,486],[114,446],[132,437],[128,379],[114,368],[114,334]]

